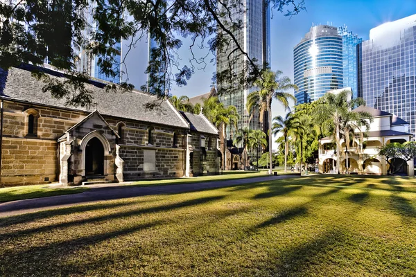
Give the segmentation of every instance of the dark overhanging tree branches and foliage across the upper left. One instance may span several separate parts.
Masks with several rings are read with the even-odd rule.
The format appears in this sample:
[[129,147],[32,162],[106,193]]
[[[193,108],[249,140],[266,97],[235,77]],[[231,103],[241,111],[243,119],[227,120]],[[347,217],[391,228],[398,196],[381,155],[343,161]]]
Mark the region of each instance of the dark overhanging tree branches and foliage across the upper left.
[[[265,0],[279,11],[291,6],[286,15],[295,15],[304,10],[302,0]],[[92,8],[94,7],[94,8]],[[46,82],[45,91],[57,98],[67,98],[71,104],[89,105],[92,101],[88,87],[89,76],[78,73],[77,51],[85,49],[89,55],[98,57],[101,73],[115,77],[120,69],[128,75],[124,60],[116,61],[120,54],[116,44],[125,39],[128,48],[137,43],[137,37],[155,41],[150,49],[152,62],[148,65],[149,81],[146,87],[159,97],[165,97],[171,83],[187,84],[194,70],[205,68],[209,53],[232,48],[234,53],[244,55],[247,76],[259,77],[261,65],[250,57],[235,30],[244,28],[236,14],[245,12],[243,1],[214,0],[25,0],[0,2],[0,68],[9,69],[31,63],[42,66],[49,60],[52,66],[64,71],[67,80],[49,78],[43,71],[36,75]],[[88,18],[94,19],[91,24]],[[223,34],[223,35],[217,35]],[[190,59],[184,63],[178,49],[190,37]],[[202,57],[194,53],[195,48],[205,49]],[[75,50],[75,51],[74,51]],[[214,60],[214,59],[213,59]],[[214,61],[212,61],[214,62]],[[114,66],[114,64],[116,66]],[[224,71],[232,73],[227,67]],[[223,74],[224,75],[224,74]],[[221,74],[218,72],[218,78]],[[109,84],[109,89],[114,89]],[[132,89],[128,82],[120,84],[123,89]]]

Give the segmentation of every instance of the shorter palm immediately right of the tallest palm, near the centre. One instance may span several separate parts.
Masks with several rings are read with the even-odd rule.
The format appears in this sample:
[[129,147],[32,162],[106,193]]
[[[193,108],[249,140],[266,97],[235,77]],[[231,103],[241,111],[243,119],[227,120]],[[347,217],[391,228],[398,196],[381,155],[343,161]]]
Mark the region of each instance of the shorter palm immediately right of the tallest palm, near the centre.
[[284,172],[287,171],[287,162],[288,162],[288,139],[289,134],[292,130],[296,130],[300,127],[300,121],[295,114],[288,112],[283,118],[281,116],[276,116],[273,118],[275,121],[272,125],[272,134],[277,135],[281,133],[284,139]]

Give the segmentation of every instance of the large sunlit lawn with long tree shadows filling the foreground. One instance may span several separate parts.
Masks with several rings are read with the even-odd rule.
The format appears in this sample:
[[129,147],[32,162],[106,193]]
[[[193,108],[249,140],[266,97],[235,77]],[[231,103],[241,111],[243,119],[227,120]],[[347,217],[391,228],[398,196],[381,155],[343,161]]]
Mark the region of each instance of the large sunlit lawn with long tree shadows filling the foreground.
[[416,180],[311,176],[0,220],[0,276],[415,276]]

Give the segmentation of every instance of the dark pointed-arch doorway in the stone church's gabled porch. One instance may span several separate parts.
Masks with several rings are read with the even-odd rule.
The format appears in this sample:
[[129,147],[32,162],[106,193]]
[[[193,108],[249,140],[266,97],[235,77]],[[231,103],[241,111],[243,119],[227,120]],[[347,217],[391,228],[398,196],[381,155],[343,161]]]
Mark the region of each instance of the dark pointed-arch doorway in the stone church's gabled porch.
[[104,146],[96,137],[85,147],[85,175],[104,175]]

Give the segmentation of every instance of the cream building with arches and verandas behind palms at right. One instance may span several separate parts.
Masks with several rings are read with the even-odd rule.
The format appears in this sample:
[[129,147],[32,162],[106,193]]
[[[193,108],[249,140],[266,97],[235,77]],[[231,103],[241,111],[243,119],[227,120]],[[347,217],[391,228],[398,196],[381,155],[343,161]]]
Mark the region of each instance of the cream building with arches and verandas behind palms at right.
[[[369,121],[370,128],[365,131],[363,138],[357,135],[354,143],[346,147],[345,140],[341,139],[340,172],[360,175],[386,175],[389,172],[389,164],[379,155],[379,148],[388,143],[404,143],[413,139],[410,134],[409,123],[395,114],[374,109],[372,107],[360,106],[354,111],[365,111],[372,116]],[[356,130],[356,134],[358,130]],[[332,136],[322,138],[319,141],[319,172],[336,174],[336,145]],[[396,174],[414,175],[413,159],[404,161],[396,158],[390,161],[395,168]]]

